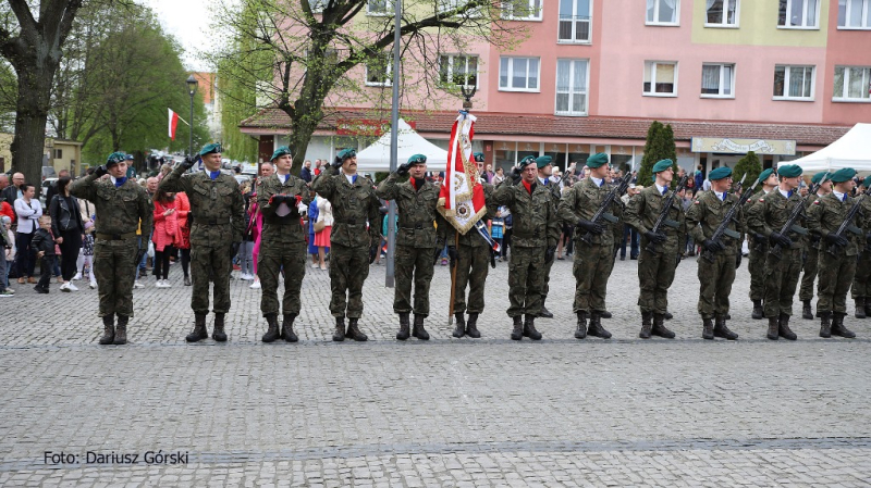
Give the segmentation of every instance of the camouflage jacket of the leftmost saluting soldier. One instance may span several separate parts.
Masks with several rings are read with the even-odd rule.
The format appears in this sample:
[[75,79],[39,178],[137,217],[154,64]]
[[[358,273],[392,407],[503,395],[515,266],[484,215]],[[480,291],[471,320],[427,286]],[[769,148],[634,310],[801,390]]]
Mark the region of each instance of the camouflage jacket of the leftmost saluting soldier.
[[140,223],[143,229],[154,225],[155,204],[145,188],[132,179],[115,188],[111,179],[89,175],[73,182],[70,193],[94,203],[97,214],[94,225],[99,234],[130,234]]

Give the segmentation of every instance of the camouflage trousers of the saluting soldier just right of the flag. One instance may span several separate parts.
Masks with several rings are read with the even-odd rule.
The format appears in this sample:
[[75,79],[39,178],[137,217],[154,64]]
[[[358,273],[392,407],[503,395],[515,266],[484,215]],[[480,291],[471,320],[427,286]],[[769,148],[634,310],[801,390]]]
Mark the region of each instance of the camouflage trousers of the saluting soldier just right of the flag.
[[508,261],[508,316],[541,313],[544,289],[544,248],[512,247]]

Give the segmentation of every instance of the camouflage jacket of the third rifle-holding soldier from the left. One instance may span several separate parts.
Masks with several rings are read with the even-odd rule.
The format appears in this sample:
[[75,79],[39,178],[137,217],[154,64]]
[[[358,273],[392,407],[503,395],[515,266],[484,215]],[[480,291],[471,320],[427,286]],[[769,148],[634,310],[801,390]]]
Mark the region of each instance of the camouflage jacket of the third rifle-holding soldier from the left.
[[[726,193],[726,200],[720,200],[714,190],[700,191],[696,195],[696,200],[687,210],[687,228],[692,239],[697,243],[710,239],[725,218],[726,213],[738,203],[738,199],[739,197],[734,193]],[[746,230],[744,212],[738,211],[726,228],[737,234],[744,234]],[[726,255],[735,255],[736,252],[740,252],[740,237],[736,239],[723,234],[720,242],[725,246],[723,253]]]

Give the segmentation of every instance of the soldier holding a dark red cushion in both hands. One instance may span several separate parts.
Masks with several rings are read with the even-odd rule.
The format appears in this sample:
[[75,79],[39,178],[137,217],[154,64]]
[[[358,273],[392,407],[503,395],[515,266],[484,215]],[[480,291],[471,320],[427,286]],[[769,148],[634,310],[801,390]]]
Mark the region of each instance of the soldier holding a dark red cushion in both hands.
[[[291,174],[291,150],[281,147],[272,153],[275,173],[257,185],[257,208],[263,214],[260,234],[260,253],[257,258],[257,276],[262,296],[260,312],[269,326],[263,342],[274,342],[279,337],[287,342],[298,340],[293,322],[299,315],[299,293],[306,275],[306,235],[300,217],[308,212],[311,201],[305,180]],[[279,334],[279,275],[284,271],[284,297],[281,310],[283,321]]]

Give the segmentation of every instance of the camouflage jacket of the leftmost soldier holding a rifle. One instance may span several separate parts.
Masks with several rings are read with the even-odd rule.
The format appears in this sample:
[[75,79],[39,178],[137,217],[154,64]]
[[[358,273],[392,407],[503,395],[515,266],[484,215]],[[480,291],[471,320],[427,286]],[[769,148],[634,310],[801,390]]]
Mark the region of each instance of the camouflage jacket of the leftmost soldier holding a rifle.
[[[590,177],[576,183],[572,189],[563,196],[563,200],[560,202],[560,217],[563,222],[572,224],[580,220],[592,220],[592,216],[599,211],[599,207],[601,207],[602,201],[604,201],[612,188],[611,185],[604,182],[602,182],[602,186],[599,187]],[[619,198],[615,198],[614,202],[611,203],[610,213],[617,218],[623,216],[623,202],[619,201]],[[598,236],[592,236],[592,243],[596,246],[613,246],[615,236],[614,227],[612,227],[608,221],[602,221],[601,224],[605,227],[605,232]],[[576,236],[584,234],[586,234],[586,232],[582,228],[575,228]]]

